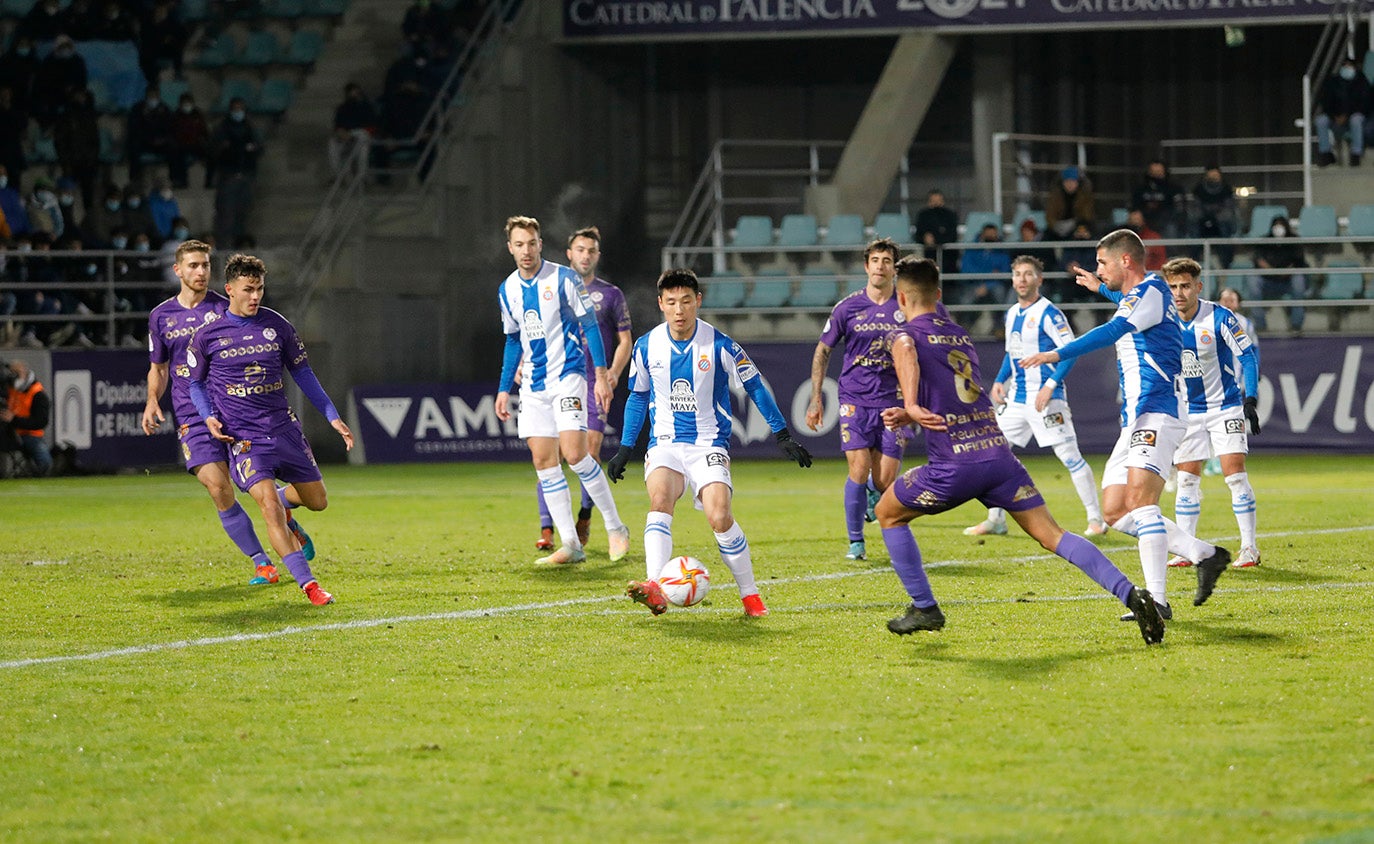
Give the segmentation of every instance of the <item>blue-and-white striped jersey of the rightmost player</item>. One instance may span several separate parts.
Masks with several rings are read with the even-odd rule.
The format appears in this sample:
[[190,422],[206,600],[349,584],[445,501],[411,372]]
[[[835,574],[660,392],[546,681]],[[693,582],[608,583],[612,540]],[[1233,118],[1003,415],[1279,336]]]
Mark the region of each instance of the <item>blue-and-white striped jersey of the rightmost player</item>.
[[1183,386],[1189,414],[1241,407],[1241,359],[1254,344],[1235,313],[1198,300],[1198,311],[1183,326]]

